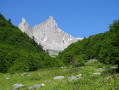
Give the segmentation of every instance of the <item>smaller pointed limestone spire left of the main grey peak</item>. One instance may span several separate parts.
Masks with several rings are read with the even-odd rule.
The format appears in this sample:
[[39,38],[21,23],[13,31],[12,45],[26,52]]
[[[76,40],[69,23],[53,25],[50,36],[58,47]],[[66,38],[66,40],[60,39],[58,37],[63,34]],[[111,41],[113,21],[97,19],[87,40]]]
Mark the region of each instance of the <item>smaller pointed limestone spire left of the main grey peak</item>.
[[18,27],[22,32],[27,32],[27,30],[30,29],[28,23],[24,18],[22,18],[22,22],[18,25]]

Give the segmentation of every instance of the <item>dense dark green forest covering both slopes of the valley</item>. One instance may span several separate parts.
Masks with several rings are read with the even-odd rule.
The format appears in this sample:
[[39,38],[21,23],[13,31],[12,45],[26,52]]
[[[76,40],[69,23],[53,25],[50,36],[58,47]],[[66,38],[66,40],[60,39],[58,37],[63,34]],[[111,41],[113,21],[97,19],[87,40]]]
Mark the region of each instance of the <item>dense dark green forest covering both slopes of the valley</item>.
[[59,66],[79,67],[90,59],[119,66],[119,20],[110,25],[109,31],[73,43],[53,58],[42,46],[12,25],[11,19],[6,20],[0,14],[0,72],[15,73]]

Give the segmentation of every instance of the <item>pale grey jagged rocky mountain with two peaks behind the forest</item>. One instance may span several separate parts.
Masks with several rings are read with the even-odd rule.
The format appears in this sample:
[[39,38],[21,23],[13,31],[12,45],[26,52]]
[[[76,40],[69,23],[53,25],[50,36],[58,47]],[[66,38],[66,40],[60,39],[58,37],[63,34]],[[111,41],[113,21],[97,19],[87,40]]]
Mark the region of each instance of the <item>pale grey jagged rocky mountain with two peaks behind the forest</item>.
[[30,28],[25,19],[22,18],[18,27],[38,44],[41,44],[44,50],[62,51],[71,43],[79,40],[59,29],[52,16],[33,28]]

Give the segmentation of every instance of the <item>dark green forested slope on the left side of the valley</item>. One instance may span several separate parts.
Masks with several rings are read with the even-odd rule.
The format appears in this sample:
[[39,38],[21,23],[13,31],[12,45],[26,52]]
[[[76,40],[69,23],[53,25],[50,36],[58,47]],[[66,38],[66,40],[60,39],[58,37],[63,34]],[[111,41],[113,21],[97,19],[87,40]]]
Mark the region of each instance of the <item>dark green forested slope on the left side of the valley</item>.
[[0,14],[0,72],[33,71],[58,64],[40,45],[12,25],[10,19]]

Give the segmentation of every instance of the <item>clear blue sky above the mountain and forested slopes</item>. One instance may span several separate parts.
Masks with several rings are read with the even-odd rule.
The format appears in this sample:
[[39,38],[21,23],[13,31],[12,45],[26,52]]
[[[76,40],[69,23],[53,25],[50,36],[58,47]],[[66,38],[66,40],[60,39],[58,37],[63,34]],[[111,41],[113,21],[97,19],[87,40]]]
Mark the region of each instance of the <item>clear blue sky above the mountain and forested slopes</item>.
[[63,31],[88,37],[119,19],[119,0],[0,0],[0,13],[16,26],[24,17],[30,27],[53,16]]

